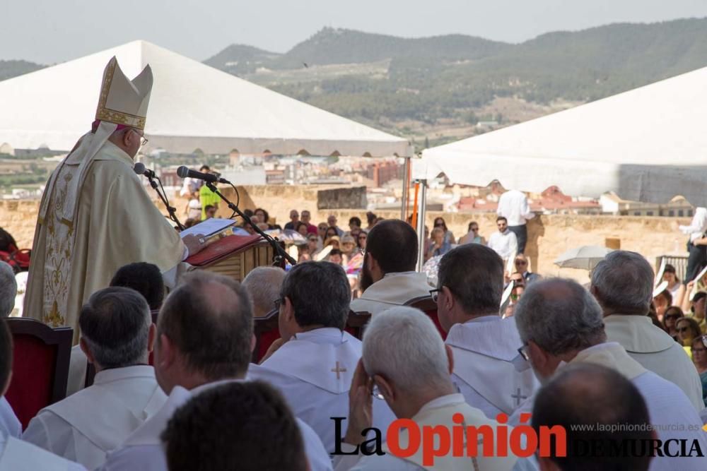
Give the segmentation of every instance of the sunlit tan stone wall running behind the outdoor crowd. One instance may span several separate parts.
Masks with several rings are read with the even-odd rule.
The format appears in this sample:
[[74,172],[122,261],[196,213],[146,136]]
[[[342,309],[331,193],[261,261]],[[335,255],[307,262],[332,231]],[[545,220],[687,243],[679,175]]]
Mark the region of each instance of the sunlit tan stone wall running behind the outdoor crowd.
[[[312,223],[322,222],[327,215],[334,214],[339,226],[348,228],[349,217],[358,216],[365,224],[366,210],[363,209],[317,209],[317,186],[243,186],[239,187],[240,208],[265,208],[271,219],[284,225],[289,220],[291,209],[304,209],[312,213]],[[223,193],[236,201],[233,189],[223,189]],[[181,220],[184,220],[186,201],[172,198]],[[0,225],[13,234],[18,244],[30,247],[33,239],[39,201],[0,201]],[[162,203],[158,204],[163,209]],[[376,211],[386,219],[399,217],[398,210]],[[218,215],[230,216],[230,210],[220,205]],[[435,217],[445,218],[448,228],[457,239],[467,232],[470,221],[479,223],[481,235],[488,237],[496,230],[496,217],[491,213],[428,213],[426,224],[432,227]],[[582,245],[604,246],[607,239],[617,239],[621,249],[638,251],[655,263],[655,258],[663,254],[684,254],[685,237],[677,229],[679,224],[689,223],[689,218],[677,217],[631,217],[631,216],[579,216],[542,215],[528,224],[528,244],[526,253],[530,256],[532,268],[546,276],[568,276],[586,282],[584,270],[559,269],[553,261],[566,249]]]

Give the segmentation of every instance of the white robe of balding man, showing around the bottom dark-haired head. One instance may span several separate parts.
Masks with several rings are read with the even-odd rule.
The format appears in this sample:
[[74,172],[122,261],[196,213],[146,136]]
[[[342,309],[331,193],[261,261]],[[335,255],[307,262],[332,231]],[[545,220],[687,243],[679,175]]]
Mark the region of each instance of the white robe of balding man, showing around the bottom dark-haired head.
[[[228,381],[240,380],[206,383],[192,390],[175,386],[167,398],[167,402],[156,415],[142,424],[139,429],[127,437],[121,446],[110,453],[106,463],[98,471],[168,471],[167,459],[160,440],[160,434],[167,427],[167,422],[175,410],[186,404],[194,395]],[[332,461],[325,451],[322,441],[307,424],[300,419],[296,420],[300,434],[302,434],[310,471],[331,470]]]

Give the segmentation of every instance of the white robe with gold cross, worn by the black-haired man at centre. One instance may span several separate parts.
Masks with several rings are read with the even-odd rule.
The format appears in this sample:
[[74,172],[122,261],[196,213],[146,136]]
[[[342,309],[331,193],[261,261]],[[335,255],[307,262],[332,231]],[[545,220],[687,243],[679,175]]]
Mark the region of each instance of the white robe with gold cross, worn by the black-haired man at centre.
[[[361,341],[338,328],[300,332],[262,365],[251,365],[248,379],[278,388],[296,417],[310,425],[329,453],[336,449],[336,423],[349,416],[349,388],[361,358]],[[386,430],[395,419],[384,401],[373,404],[373,427]],[[346,429],[346,420],[341,430]]]

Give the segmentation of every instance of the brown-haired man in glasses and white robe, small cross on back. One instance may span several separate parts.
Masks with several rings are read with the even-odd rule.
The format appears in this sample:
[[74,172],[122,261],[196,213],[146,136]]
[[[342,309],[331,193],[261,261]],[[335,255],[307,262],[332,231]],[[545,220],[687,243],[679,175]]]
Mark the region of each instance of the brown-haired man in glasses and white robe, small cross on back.
[[501,258],[479,244],[453,249],[440,261],[437,295],[440,324],[448,332],[445,343],[455,359],[452,381],[459,392],[489,419],[501,412],[513,414],[539,383],[518,354],[515,321],[498,316]]

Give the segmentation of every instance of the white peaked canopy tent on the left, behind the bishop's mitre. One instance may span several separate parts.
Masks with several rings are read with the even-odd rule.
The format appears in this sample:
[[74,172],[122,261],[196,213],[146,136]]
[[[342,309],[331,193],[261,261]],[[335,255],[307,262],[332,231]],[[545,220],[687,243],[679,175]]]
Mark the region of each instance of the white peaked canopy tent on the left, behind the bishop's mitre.
[[259,87],[144,41],[0,82],[0,145],[71,150],[90,129],[103,68],[150,64],[149,148],[175,153],[410,157],[408,141]]

